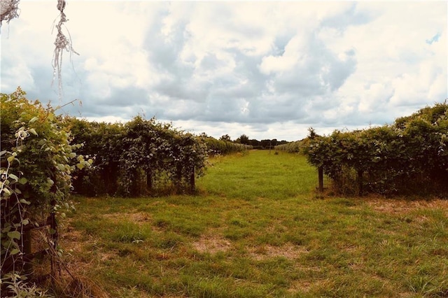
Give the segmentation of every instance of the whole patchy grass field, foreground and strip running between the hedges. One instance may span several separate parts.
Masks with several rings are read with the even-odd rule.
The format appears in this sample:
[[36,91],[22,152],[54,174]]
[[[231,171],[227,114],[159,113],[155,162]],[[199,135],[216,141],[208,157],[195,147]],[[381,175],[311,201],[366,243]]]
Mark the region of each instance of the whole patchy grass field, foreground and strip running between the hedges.
[[321,199],[283,152],[211,163],[194,196],[76,198],[72,274],[111,297],[448,296],[448,201]]

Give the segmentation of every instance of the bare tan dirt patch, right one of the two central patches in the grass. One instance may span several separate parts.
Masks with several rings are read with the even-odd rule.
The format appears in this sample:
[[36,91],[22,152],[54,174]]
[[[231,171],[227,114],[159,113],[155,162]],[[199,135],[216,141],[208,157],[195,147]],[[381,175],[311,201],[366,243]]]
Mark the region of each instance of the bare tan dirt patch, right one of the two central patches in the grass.
[[304,253],[308,253],[307,248],[304,246],[295,246],[291,243],[287,243],[283,246],[260,246],[253,248],[250,251],[251,257],[255,260],[266,260],[271,257],[286,257],[286,259],[297,259]]

